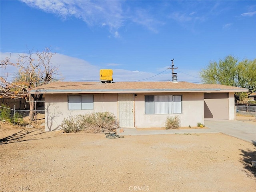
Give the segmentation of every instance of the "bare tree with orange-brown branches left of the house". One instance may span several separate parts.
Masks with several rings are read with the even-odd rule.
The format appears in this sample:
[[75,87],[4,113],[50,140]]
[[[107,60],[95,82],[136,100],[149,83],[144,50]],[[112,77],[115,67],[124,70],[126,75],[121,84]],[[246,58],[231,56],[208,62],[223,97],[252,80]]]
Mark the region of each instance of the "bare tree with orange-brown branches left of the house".
[[28,54],[19,55],[17,63],[10,62],[10,57],[1,60],[1,67],[13,65],[18,69],[17,76],[12,82],[7,78],[0,78],[1,92],[0,96],[10,98],[28,98],[30,105],[29,120],[34,118],[35,102],[42,99],[42,94],[29,94],[32,88],[42,84],[48,84],[58,75],[58,66],[53,66],[51,59],[55,53],[49,48],[42,52],[33,53],[28,49]]

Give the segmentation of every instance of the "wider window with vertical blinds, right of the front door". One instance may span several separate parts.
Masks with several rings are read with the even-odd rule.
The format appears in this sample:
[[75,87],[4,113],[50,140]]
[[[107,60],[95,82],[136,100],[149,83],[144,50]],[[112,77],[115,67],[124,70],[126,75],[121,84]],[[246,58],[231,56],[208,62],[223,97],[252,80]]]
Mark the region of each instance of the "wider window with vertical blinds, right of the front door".
[[145,114],[181,113],[181,95],[146,95]]

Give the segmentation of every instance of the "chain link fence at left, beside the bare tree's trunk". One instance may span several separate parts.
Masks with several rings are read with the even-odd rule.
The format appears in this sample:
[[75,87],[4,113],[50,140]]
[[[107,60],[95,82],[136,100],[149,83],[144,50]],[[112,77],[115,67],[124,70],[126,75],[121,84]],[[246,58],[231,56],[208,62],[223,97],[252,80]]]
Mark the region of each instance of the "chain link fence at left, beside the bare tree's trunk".
[[28,119],[30,111],[34,111],[35,120],[38,119],[37,117],[39,115],[44,116],[44,110],[15,110],[0,106],[0,117],[1,120],[6,120],[8,118],[11,122],[15,124],[19,119]]

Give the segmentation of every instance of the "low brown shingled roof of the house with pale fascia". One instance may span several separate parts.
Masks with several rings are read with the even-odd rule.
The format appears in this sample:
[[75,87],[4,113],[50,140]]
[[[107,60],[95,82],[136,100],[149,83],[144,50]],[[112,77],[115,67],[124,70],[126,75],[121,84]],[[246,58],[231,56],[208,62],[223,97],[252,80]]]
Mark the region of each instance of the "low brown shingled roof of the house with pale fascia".
[[189,82],[51,82],[38,86],[30,93],[146,93],[146,92],[247,92],[248,89],[220,84]]

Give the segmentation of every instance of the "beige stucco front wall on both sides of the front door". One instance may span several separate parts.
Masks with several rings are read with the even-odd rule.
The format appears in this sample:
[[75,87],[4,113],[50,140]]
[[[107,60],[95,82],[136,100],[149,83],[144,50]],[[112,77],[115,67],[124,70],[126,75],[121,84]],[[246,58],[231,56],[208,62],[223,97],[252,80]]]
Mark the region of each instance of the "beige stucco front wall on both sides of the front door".
[[[181,126],[196,126],[197,122],[204,123],[204,94],[180,93],[178,95],[182,95],[182,114],[178,114]],[[166,118],[176,115],[145,114],[144,96],[145,94],[137,93],[137,97],[134,98],[134,126],[137,128],[164,127]],[[69,116],[104,111],[118,116],[117,94],[94,94],[93,110],[68,110],[68,94],[45,94],[45,130],[60,130],[62,120]]]

